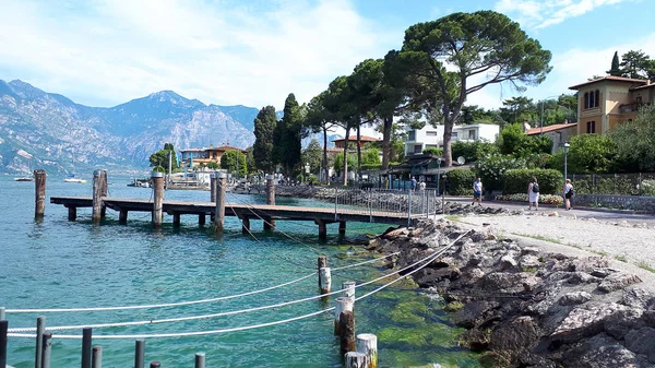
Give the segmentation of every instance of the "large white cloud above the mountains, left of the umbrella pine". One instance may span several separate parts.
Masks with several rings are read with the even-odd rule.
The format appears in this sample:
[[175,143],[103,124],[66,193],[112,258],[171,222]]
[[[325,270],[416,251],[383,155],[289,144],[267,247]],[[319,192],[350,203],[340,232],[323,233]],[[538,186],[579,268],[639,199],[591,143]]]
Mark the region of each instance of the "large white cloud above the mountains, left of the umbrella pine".
[[73,12],[3,2],[0,79],[85,104],[174,90],[205,103],[282,108],[288,93],[307,102],[361,60],[400,47],[390,35],[403,31],[377,29],[347,0],[218,4],[95,0]]

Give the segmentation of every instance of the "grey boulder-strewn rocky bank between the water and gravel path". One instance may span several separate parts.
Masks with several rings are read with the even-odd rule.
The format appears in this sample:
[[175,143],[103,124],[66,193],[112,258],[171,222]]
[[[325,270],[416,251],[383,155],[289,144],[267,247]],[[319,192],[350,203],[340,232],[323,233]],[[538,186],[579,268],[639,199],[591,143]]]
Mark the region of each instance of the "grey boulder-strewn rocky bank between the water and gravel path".
[[[425,219],[367,248],[400,251],[389,266],[402,268],[465,232]],[[655,295],[606,257],[568,257],[472,230],[413,277],[443,297],[453,323],[467,329],[460,344],[481,352],[487,367],[655,367]]]

